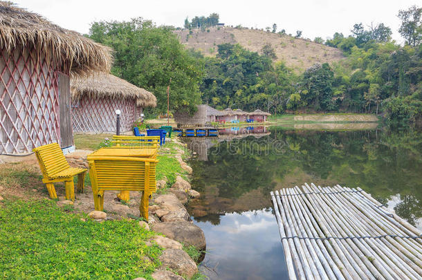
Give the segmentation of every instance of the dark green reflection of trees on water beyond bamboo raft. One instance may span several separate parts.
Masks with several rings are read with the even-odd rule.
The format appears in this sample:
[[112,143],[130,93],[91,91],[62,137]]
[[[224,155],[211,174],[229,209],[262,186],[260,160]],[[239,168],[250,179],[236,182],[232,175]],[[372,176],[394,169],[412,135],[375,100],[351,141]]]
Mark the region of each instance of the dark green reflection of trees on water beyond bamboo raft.
[[[216,188],[218,192],[208,198],[232,201],[258,188],[268,195],[286,174],[300,169],[315,178],[315,183],[324,180],[362,187],[384,203],[393,195],[406,194],[396,211],[413,222],[422,216],[419,131],[270,130],[264,138],[222,142],[210,149],[208,161],[192,161],[195,188],[201,193]],[[252,141],[261,153],[250,149]]]

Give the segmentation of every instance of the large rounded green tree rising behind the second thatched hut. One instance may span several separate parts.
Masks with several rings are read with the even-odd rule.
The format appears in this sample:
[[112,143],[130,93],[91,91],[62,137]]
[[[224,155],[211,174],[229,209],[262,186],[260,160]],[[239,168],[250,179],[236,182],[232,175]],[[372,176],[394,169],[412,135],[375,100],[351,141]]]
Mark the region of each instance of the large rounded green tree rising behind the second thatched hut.
[[142,18],[100,21],[92,24],[89,37],[115,50],[111,72],[154,93],[157,111],[167,109],[170,78],[172,110],[192,111],[201,102],[203,62],[185,50],[170,28]]

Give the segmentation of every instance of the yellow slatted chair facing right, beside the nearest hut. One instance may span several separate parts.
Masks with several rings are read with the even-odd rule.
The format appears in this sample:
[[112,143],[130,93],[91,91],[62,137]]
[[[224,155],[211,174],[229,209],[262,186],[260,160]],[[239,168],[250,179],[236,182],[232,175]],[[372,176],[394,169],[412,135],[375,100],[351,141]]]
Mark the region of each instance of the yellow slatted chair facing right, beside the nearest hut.
[[42,182],[46,184],[51,198],[57,198],[54,184],[64,182],[66,199],[75,200],[73,176],[77,175],[77,191],[84,192],[84,178],[87,169],[71,167],[59,144],[52,143],[33,149],[42,171]]

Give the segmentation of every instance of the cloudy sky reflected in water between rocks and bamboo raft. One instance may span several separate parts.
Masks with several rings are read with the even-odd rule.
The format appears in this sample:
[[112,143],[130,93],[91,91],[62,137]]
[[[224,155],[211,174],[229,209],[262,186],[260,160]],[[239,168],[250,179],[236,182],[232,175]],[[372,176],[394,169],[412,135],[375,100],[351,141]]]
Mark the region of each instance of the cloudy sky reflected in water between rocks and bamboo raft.
[[223,214],[219,225],[196,225],[210,244],[201,270],[211,279],[287,279],[277,221],[270,210]]

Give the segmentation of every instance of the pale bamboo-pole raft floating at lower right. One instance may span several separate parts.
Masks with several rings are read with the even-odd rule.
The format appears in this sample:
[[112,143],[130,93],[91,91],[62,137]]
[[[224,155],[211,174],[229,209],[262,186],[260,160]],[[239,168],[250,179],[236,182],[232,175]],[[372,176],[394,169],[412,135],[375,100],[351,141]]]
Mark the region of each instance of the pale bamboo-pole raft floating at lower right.
[[422,279],[422,233],[363,189],[271,192],[289,279]]

